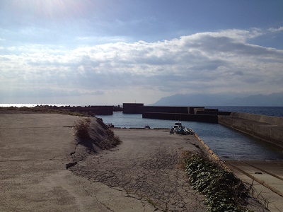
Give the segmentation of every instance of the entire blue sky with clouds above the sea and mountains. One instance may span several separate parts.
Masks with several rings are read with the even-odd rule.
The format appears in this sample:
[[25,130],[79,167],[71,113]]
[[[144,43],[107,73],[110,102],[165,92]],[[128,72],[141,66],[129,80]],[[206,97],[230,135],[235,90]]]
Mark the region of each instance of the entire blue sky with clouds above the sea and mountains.
[[0,0],[0,104],[279,92],[282,0]]

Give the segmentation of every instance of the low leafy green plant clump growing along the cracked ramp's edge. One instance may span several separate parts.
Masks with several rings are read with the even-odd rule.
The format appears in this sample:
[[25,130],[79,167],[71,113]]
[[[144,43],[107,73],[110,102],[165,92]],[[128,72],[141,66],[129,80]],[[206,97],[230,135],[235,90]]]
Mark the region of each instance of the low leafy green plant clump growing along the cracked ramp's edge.
[[245,185],[219,163],[191,153],[185,159],[185,172],[193,189],[206,197],[207,211],[247,211],[241,206],[248,196]]

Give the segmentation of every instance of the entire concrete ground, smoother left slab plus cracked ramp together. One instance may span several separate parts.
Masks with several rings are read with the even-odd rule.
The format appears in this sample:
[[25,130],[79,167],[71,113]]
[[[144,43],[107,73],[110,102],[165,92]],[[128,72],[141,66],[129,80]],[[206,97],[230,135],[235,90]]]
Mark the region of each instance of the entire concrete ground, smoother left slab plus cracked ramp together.
[[70,172],[78,119],[0,114],[0,211],[205,211],[176,167],[194,137],[115,130],[120,146],[87,155]]

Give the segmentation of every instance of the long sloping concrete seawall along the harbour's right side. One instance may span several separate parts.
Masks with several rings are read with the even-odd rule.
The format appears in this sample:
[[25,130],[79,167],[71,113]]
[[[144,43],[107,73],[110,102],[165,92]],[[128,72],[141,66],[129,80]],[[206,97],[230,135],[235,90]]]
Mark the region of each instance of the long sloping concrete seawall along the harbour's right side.
[[219,115],[218,122],[283,148],[283,117],[231,112]]

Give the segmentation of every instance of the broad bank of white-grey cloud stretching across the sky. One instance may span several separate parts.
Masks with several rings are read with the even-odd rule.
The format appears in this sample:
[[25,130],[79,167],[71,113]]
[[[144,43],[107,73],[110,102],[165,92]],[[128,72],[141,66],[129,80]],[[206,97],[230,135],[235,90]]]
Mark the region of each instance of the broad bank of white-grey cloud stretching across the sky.
[[0,90],[34,95],[30,90],[37,90],[42,96],[105,93],[113,99],[126,98],[122,93],[130,95],[129,90],[144,99],[149,90],[158,95],[282,91],[283,51],[248,44],[259,35],[258,29],[222,30],[71,50],[8,47],[18,53],[0,55]]

